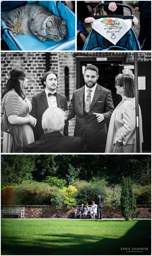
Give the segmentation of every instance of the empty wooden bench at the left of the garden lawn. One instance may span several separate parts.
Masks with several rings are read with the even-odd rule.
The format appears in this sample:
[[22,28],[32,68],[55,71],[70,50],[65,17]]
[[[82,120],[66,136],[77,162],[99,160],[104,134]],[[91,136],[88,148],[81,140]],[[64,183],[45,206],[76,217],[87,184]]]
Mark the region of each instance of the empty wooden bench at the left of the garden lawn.
[[2,215],[20,215],[22,219],[24,218],[24,208],[25,207],[3,207],[3,210],[1,210],[1,218]]

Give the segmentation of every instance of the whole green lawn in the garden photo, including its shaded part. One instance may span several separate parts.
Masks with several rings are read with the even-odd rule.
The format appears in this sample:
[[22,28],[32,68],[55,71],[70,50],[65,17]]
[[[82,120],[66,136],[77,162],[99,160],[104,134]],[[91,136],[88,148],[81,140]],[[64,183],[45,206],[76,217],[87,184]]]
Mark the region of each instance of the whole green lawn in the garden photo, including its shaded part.
[[146,255],[151,222],[98,220],[2,220],[2,255]]

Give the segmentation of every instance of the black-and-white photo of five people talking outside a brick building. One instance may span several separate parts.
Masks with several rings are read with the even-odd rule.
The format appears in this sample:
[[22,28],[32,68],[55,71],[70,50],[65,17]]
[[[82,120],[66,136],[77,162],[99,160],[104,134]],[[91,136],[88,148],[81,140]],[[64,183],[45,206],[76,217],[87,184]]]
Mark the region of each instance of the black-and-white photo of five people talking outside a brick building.
[[151,52],[3,52],[1,71],[3,153],[151,152]]

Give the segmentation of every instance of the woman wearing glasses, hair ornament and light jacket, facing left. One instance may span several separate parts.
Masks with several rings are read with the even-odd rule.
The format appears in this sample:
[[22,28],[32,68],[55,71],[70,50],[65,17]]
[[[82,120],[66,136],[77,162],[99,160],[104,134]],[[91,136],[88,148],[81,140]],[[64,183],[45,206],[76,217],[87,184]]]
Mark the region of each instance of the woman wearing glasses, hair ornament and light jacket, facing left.
[[[122,101],[115,108],[109,124],[106,153],[136,153],[135,82],[130,69],[115,78],[116,93]],[[140,152],[142,152],[142,118],[139,107]]]

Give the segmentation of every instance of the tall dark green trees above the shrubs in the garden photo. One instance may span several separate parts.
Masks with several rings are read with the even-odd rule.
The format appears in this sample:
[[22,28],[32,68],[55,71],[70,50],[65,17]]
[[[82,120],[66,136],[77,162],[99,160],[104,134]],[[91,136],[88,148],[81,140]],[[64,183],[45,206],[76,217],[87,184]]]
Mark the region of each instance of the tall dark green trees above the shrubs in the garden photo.
[[130,176],[134,184],[151,184],[149,155],[2,155],[1,159],[4,185],[26,179],[42,182],[47,176],[64,179],[67,185],[99,178],[113,186],[121,183],[122,176]]

